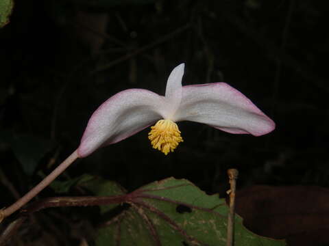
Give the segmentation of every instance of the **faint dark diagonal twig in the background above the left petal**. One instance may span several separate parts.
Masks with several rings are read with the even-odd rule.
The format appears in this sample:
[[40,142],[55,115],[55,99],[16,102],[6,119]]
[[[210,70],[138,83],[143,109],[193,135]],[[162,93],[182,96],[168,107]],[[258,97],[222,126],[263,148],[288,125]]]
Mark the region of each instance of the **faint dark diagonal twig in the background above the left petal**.
[[127,59],[130,59],[131,57],[134,57],[134,56],[138,55],[139,53],[147,51],[148,49],[151,49],[154,46],[157,46],[158,44],[161,44],[162,42],[166,42],[167,40],[173,38],[173,36],[176,36],[179,33],[182,33],[182,31],[185,31],[190,26],[191,26],[190,24],[186,24],[183,27],[179,27],[175,31],[163,36],[162,38],[159,38],[158,40],[152,42],[151,44],[147,44],[147,45],[141,47],[140,49],[136,49],[136,51],[132,51],[132,53],[129,53],[127,55],[123,55],[122,57],[119,57],[118,59],[115,59],[114,61],[111,61],[109,64],[106,64],[104,66],[100,66],[99,68],[96,68],[95,70],[91,71],[91,74],[95,74],[96,72],[101,72],[103,70],[111,68],[112,66],[117,65],[117,64],[121,63],[122,61],[126,61]]

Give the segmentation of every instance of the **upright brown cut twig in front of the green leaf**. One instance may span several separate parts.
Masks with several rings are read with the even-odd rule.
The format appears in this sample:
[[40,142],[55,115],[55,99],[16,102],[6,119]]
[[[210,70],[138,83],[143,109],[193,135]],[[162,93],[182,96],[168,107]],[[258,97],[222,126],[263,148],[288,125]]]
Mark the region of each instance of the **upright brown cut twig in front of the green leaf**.
[[235,205],[235,189],[236,179],[238,178],[239,172],[236,169],[228,169],[228,178],[230,179],[230,213],[228,214],[228,238],[226,240],[227,246],[234,245],[234,205]]

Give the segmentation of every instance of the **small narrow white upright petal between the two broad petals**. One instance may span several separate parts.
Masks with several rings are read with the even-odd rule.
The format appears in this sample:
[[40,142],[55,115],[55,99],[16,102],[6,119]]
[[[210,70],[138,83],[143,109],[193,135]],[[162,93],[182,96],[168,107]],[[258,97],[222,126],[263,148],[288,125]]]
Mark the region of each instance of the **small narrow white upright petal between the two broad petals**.
[[165,118],[170,119],[178,109],[180,101],[182,100],[182,77],[184,75],[185,64],[180,64],[173,68],[169,75],[166,86],[166,100],[171,105],[171,110]]

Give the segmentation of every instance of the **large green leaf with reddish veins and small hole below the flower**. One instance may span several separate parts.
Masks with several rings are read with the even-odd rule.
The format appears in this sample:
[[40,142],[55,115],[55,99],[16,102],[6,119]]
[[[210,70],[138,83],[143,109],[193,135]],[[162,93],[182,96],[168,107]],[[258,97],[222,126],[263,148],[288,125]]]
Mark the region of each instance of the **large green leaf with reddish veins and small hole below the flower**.
[[[120,193],[110,181],[89,186],[97,195]],[[114,188],[112,187],[114,186]],[[97,191],[96,187],[100,187]],[[110,194],[106,191],[110,191]],[[124,196],[130,204],[99,229],[96,245],[226,245],[228,207],[188,180],[167,178]],[[284,245],[249,232],[236,217],[236,245]]]

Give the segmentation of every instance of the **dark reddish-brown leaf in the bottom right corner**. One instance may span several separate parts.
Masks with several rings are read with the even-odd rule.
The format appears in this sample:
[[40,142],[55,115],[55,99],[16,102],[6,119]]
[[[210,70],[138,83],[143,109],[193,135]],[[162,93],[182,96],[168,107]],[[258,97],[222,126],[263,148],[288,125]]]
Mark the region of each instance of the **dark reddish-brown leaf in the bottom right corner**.
[[250,230],[289,245],[328,245],[329,189],[253,186],[236,195],[236,213]]

